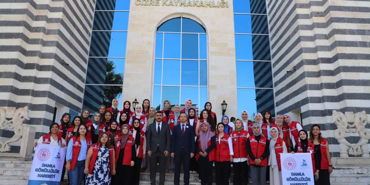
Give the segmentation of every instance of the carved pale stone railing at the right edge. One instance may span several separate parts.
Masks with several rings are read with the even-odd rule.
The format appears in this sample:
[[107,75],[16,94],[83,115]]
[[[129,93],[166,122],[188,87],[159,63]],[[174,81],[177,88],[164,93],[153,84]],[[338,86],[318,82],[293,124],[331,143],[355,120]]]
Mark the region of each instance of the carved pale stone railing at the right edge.
[[[370,139],[370,131],[365,128],[366,124],[370,123],[365,111],[353,112],[338,112],[333,110],[332,123],[337,125],[334,130],[334,138],[339,142],[340,157],[348,157],[349,155],[361,157],[370,157],[369,146],[367,142]],[[357,143],[350,143],[346,139],[346,134],[357,133],[360,140]]]

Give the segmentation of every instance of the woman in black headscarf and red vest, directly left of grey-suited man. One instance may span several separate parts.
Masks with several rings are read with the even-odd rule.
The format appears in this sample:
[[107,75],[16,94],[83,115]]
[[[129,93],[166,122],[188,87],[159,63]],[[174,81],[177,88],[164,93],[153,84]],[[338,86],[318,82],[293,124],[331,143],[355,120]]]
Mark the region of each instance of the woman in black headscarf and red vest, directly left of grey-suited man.
[[[134,159],[134,166],[132,166],[132,184],[139,185],[140,169],[145,168],[145,151],[147,150],[147,141],[145,139],[145,132],[141,129],[141,123],[138,118],[134,118],[132,129],[132,137],[135,140],[136,155]],[[144,164],[142,166],[141,164]]]

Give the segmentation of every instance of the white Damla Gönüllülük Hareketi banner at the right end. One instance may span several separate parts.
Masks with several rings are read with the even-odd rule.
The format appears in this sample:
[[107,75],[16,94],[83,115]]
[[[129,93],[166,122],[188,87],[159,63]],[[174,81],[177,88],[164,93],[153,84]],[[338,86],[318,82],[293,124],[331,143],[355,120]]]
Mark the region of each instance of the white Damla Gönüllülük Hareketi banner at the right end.
[[310,153],[280,154],[284,185],[314,185]]

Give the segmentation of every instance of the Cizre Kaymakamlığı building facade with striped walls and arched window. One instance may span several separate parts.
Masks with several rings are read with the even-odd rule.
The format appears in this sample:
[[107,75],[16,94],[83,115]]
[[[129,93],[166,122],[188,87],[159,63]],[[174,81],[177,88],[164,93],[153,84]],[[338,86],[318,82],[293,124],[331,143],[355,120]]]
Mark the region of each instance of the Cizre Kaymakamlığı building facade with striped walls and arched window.
[[[212,102],[219,117],[223,100],[233,117],[291,112],[305,129],[321,126],[333,157],[369,157],[369,138],[362,140],[370,128],[369,1],[4,0],[0,7],[0,106],[28,106],[24,125],[36,127],[36,138],[63,112],[92,114],[114,97],[120,109],[135,98],[157,109],[190,98],[199,110]],[[338,112],[348,118],[345,129]],[[350,145],[339,141],[342,131]],[[3,141],[13,134],[0,129]],[[11,146],[19,152],[19,141]]]

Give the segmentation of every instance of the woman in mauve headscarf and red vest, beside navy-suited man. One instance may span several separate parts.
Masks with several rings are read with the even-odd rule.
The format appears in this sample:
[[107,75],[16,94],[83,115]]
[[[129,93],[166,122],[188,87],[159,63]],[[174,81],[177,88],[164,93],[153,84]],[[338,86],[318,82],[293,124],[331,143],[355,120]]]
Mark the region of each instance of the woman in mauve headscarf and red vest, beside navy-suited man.
[[202,185],[212,185],[212,166],[215,160],[216,137],[208,122],[202,122],[201,132],[196,139],[196,160]]

